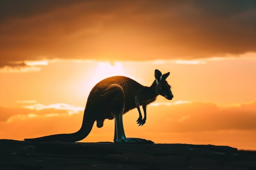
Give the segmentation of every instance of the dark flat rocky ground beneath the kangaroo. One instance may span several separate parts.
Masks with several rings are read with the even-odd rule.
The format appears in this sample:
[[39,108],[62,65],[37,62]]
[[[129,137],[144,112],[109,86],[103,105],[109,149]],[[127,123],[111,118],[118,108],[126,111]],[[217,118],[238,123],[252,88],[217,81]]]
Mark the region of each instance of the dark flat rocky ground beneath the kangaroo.
[[0,140],[0,170],[256,170],[256,152],[229,146]]

